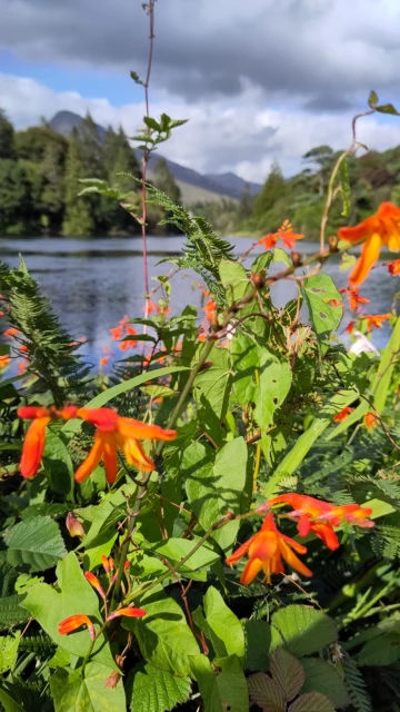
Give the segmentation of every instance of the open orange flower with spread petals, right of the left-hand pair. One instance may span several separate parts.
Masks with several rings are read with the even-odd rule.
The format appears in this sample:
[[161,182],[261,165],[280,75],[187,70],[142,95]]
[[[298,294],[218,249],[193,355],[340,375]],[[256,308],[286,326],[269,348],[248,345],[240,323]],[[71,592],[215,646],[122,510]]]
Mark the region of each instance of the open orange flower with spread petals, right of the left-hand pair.
[[140,421],[121,417],[111,408],[79,408],[77,416],[98,428],[92,449],[76,472],[77,482],[87,479],[103,459],[107,482],[113,484],[118,472],[118,447],[123,451],[130,465],[151,472],[156,465],[138,441],[142,438],[172,441],[177,437],[176,431],[164,431],[159,425],[147,425]]

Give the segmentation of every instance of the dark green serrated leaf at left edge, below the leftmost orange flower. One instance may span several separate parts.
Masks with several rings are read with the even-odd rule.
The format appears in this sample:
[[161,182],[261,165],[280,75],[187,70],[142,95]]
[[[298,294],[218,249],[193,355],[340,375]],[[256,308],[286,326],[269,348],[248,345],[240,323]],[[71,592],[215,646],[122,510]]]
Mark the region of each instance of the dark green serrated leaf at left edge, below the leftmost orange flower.
[[13,566],[28,564],[31,571],[53,566],[66,555],[59,525],[49,516],[37,516],[16,524],[4,536],[8,546],[2,552]]

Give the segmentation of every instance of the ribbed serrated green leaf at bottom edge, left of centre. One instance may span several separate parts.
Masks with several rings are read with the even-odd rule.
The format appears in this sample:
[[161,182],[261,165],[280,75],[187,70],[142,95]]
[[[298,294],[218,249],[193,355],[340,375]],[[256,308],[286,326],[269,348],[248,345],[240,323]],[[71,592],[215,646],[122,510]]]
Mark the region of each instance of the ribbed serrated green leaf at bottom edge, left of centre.
[[177,678],[170,672],[140,663],[133,669],[131,706],[134,712],[169,712],[190,695],[190,678]]

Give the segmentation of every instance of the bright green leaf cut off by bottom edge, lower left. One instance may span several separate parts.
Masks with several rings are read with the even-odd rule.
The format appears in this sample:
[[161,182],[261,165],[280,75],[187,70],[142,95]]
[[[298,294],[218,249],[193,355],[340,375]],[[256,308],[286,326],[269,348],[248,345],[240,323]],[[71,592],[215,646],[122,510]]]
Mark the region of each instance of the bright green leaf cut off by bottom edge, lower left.
[[90,663],[84,678],[80,670],[59,669],[50,675],[50,690],[56,712],[122,712],[127,709],[123,684],[108,686],[111,668]]

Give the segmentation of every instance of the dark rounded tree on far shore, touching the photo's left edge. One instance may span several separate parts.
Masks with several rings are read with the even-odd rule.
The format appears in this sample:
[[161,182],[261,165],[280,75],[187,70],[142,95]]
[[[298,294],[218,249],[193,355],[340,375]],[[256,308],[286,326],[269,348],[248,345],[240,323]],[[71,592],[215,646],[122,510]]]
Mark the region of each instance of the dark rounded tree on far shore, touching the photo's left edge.
[[0,158],[0,235],[23,235],[30,216],[31,196],[23,167]]

